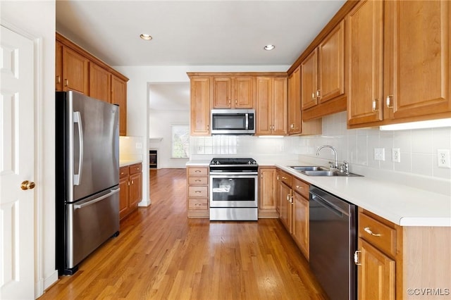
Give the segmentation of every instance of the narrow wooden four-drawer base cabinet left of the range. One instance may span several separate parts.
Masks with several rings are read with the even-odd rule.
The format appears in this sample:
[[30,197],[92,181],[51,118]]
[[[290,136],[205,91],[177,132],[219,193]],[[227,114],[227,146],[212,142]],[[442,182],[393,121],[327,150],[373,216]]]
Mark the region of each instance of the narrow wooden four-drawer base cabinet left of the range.
[[209,168],[187,167],[188,218],[209,218]]

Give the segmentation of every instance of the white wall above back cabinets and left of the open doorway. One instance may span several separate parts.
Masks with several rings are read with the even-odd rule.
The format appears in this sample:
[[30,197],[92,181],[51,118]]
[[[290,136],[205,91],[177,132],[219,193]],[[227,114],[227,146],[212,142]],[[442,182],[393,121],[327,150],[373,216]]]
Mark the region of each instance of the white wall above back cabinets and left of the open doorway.
[[[127,135],[149,137],[149,84],[189,82],[187,72],[285,72],[290,65],[271,66],[115,66],[130,80],[127,85]],[[148,147],[142,149],[142,165],[149,165]],[[149,173],[143,172],[142,202],[149,202]]]

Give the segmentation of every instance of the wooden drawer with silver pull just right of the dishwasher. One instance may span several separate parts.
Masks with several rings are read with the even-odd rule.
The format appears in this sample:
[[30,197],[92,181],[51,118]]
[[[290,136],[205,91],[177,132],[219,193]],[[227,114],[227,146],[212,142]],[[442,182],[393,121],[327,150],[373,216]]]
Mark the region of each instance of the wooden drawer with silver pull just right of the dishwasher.
[[364,213],[359,213],[359,237],[385,254],[396,254],[396,230]]

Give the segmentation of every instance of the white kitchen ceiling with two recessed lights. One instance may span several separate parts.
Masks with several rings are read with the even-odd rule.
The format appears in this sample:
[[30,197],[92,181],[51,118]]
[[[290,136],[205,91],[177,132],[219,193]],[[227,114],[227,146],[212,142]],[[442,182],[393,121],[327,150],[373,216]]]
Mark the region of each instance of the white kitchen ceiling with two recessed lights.
[[56,30],[113,66],[291,65],[344,3],[57,0]]

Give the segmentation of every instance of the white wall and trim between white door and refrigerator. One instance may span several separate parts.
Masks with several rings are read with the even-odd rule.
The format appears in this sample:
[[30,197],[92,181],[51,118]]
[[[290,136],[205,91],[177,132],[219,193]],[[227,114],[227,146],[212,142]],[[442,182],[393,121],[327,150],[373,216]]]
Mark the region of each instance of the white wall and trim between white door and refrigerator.
[[[1,1],[1,25],[40,39],[35,75],[35,295],[58,279],[55,270],[55,11],[49,1]],[[30,108],[32,109],[32,108]],[[30,249],[31,251],[31,249]],[[30,271],[31,271],[30,267]]]

